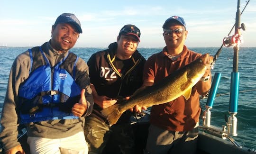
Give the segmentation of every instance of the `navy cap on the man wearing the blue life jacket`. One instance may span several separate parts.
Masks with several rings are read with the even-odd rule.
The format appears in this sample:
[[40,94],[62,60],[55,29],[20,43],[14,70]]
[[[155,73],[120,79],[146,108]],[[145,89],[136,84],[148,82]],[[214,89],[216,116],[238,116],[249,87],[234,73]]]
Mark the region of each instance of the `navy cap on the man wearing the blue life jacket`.
[[75,27],[77,32],[82,33],[82,28],[81,28],[80,21],[72,13],[63,13],[63,14],[61,14],[56,19],[55,25],[59,24],[59,23],[70,23]]

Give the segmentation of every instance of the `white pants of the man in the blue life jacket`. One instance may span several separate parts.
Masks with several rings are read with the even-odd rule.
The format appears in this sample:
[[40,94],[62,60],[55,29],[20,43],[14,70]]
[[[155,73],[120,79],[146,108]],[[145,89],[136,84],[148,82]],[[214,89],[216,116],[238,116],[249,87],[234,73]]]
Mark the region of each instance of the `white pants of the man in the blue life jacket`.
[[88,154],[83,132],[59,139],[27,137],[27,143],[31,154]]

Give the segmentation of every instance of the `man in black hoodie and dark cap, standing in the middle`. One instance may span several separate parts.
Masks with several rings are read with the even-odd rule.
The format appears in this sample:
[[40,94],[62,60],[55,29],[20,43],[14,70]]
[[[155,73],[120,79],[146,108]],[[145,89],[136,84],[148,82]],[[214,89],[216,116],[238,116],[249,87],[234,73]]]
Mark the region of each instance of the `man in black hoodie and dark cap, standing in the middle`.
[[[145,58],[138,53],[140,30],[134,25],[121,28],[117,42],[91,55],[88,61],[94,109],[86,118],[85,137],[89,154],[134,154],[134,137],[129,124],[131,111],[126,111],[110,127],[101,109],[128,97],[142,85]],[[134,108],[140,112],[141,109]]]

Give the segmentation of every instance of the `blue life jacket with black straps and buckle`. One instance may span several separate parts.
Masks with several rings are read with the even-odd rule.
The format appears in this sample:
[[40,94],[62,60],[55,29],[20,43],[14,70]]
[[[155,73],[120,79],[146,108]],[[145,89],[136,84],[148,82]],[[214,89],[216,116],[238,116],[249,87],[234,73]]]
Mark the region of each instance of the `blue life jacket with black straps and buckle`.
[[78,56],[69,52],[51,67],[41,47],[40,52],[38,47],[28,51],[31,59],[29,77],[18,89],[19,123],[77,119],[71,108],[79,101],[81,92],[74,81]]

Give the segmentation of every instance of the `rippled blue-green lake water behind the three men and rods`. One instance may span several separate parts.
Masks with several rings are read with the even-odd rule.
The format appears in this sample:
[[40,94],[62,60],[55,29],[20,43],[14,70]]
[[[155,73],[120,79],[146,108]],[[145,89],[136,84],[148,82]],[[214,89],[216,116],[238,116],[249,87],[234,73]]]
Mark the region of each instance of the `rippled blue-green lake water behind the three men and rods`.
[[[2,110],[9,71],[15,57],[26,51],[27,47],[0,48],[0,111]],[[71,51],[80,56],[86,62],[91,54],[104,48],[73,48]],[[189,48],[198,53],[216,54],[219,47]],[[138,48],[139,52],[147,59],[151,54],[160,52],[162,48]],[[238,72],[240,73],[238,97],[238,136],[234,139],[242,146],[256,149],[256,47],[240,47]],[[219,82],[218,94],[211,111],[211,125],[221,127],[226,125],[224,116],[229,117],[229,89],[230,76],[233,67],[233,48],[223,48],[217,59],[212,75],[215,72],[222,73]],[[201,100],[201,108],[205,109],[206,99]]]

